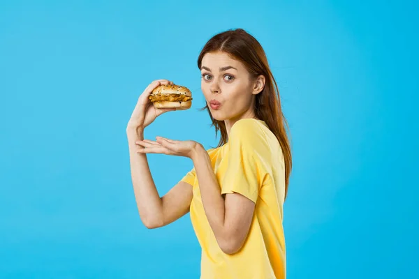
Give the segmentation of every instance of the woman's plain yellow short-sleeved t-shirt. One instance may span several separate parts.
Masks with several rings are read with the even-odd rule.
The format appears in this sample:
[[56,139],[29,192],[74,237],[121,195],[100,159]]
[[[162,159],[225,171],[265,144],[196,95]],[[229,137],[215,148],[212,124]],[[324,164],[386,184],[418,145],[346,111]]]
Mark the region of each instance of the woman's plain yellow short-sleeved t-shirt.
[[193,186],[193,229],[202,248],[201,279],[284,279],[286,249],[282,226],[284,156],[265,121],[240,119],[228,143],[207,150],[222,194],[240,193],[256,202],[244,245],[233,255],[219,248],[205,215],[195,168],[182,181]]

